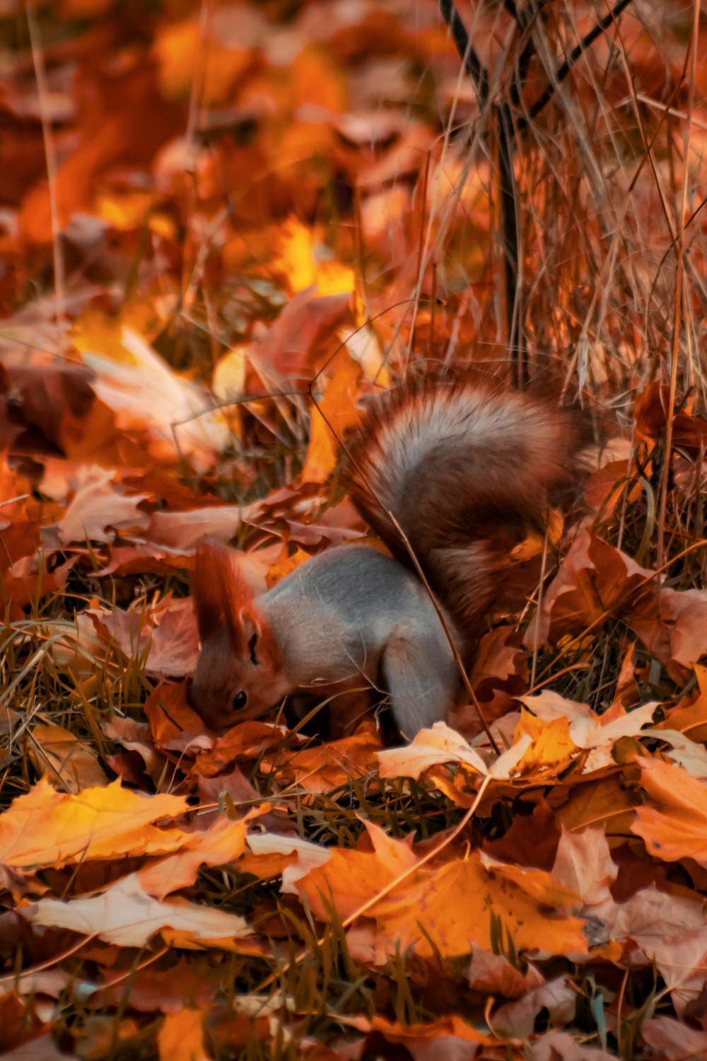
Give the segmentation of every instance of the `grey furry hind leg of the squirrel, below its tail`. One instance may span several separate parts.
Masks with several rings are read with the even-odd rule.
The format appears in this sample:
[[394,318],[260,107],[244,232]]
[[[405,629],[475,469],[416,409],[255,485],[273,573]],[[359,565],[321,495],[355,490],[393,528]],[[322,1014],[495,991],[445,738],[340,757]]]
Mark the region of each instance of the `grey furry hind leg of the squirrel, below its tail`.
[[383,656],[383,675],[403,736],[442,721],[457,699],[459,675],[446,645],[401,624]]

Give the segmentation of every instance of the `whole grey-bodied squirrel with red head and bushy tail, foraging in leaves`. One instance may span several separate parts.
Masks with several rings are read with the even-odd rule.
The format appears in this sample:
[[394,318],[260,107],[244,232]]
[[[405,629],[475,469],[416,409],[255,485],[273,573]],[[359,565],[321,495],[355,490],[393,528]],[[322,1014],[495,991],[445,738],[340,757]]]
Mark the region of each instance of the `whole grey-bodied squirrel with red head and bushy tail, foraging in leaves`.
[[191,697],[217,730],[283,697],[361,679],[387,691],[411,737],[459,702],[462,658],[480,633],[508,555],[577,485],[586,419],[495,380],[414,383],[372,403],[348,447],[351,498],[392,556],[325,550],[257,599],[234,554],[205,543],[193,595],[201,648]]

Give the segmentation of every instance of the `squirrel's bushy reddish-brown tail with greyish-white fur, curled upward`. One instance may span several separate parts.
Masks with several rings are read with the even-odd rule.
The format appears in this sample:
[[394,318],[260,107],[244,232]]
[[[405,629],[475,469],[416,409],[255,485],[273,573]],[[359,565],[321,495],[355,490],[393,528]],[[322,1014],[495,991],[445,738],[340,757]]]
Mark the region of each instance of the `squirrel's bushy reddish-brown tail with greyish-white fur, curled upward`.
[[351,498],[402,562],[386,509],[431,588],[473,640],[494,577],[531,528],[577,488],[588,418],[487,378],[386,392],[349,449]]

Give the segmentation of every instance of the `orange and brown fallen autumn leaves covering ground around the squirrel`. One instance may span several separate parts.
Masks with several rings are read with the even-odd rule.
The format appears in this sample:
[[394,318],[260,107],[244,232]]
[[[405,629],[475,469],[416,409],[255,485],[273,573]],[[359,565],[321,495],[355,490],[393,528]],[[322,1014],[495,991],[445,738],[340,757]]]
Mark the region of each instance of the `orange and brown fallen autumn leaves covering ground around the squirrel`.
[[[562,72],[590,5],[480,5],[481,99],[432,0],[0,14],[3,1056],[707,1058],[707,29],[620,6]],[[359,538],[369,397],[508,361],[497,98],[523,356],[608,438],[482,631],[501,754],[209,731],[196,543]]]

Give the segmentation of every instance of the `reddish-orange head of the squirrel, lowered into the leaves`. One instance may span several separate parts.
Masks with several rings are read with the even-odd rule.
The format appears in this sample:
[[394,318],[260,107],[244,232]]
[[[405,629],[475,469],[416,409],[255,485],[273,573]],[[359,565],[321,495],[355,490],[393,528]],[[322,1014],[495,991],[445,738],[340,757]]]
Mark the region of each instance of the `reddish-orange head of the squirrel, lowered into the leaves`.
[[232,550],[197,546],[192,597],[201,642],[194,708],[216,731],[264,714],[288,690],[275,638]]

